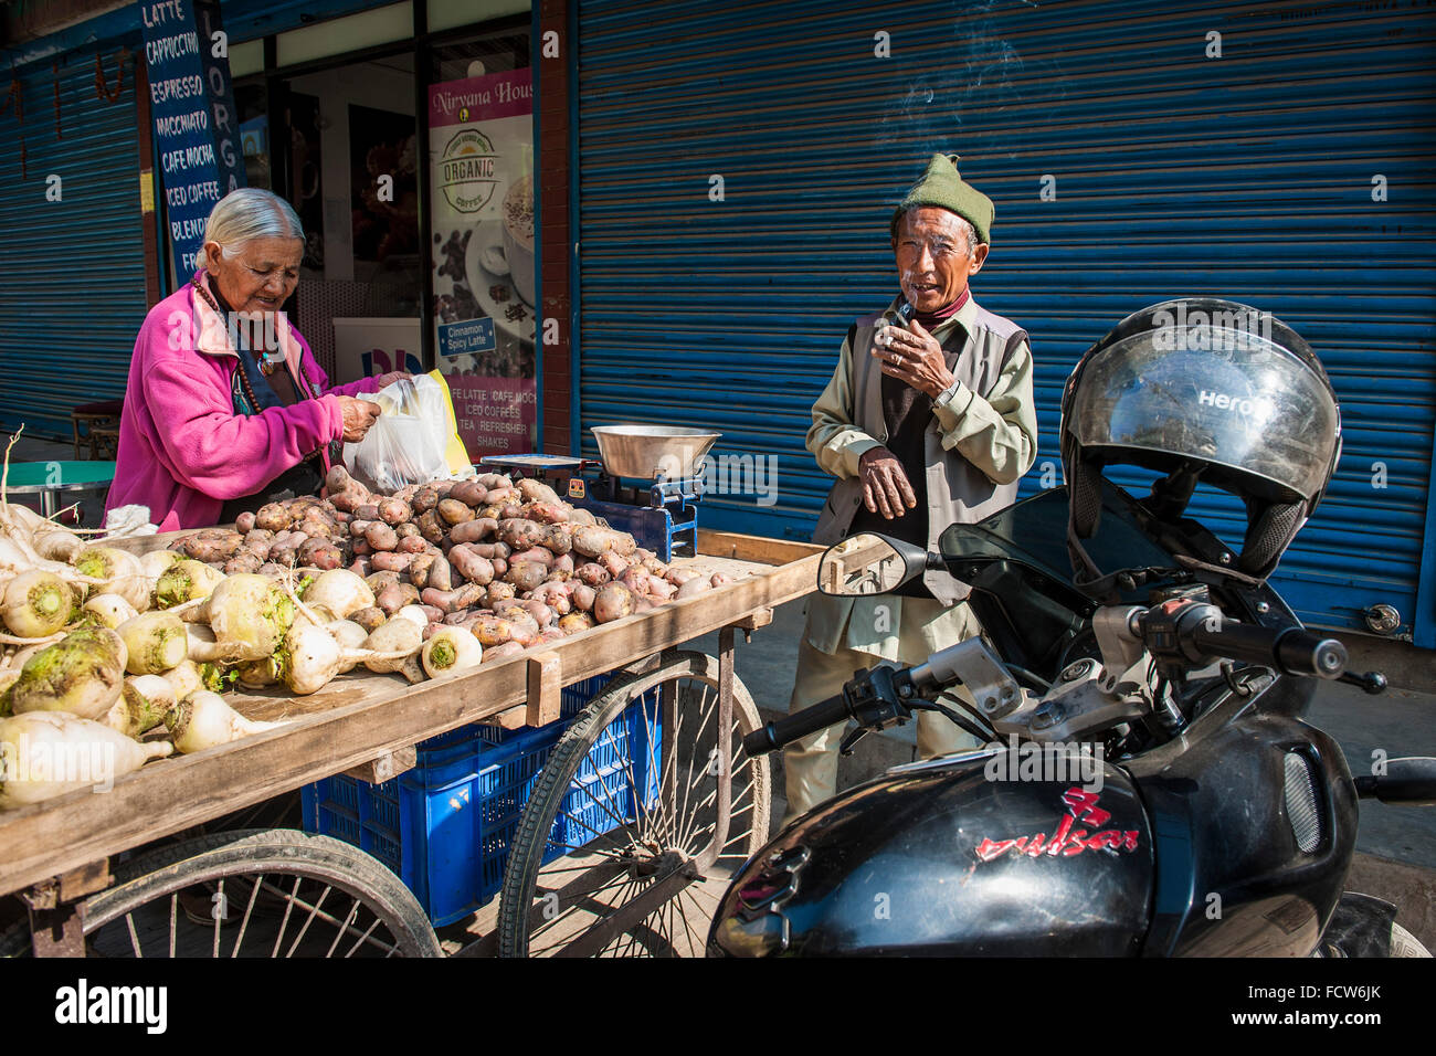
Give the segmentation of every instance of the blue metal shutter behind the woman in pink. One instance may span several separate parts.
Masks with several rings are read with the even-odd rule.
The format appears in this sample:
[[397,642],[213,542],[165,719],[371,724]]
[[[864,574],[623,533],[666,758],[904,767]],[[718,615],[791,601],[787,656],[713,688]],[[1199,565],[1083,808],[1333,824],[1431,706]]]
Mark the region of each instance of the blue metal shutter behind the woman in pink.
[[[145,319],[135,40],[59,60],[59,135],[50,60],[20,68],[24,122],[0,116],[0,428],[69,438],[70,408],[125,392]],[[115,92],[96,89],[95,55]],[[142,59],[141,59],[142,60]],[[22,172],[20,144],[24,142]],[[47,177],[60,201],[47,201]]]

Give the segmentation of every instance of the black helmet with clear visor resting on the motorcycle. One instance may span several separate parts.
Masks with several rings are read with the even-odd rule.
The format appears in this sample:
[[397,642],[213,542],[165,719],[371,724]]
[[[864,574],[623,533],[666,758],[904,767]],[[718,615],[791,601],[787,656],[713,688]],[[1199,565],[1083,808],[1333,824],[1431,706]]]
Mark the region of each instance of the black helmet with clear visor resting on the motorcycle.
[[1127,316],[1078,361],[1063,392],[1067,539],[1078,579],[1103,575],[1081,545],[1097,532],[1101,470],[1167,476],[1165,519],[1206,481],[1246,504],[1236,570],[1265,579],[1315,511],[1341,454],[1327,372],[1295,330],[1246,305],[1167,300]]

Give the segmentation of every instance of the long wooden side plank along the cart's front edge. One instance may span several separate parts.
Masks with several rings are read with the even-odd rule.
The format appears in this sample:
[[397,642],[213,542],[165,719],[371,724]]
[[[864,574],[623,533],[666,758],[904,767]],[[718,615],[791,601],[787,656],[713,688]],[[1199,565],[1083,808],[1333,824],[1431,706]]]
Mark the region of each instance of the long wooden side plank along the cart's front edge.
[[[165,537],[148,540],[145,549],[165,545]],[[543,652],[557,657],[560,684],[642,661],[801,598],[817,586],[819,546],[699,529],[698,550],[698,559],[684,563],[702,563],[741,578],[544,644]],[[0,815],[0,894],[391,753],[404,759],[418,741],[455,727],[494,720],[514,708],[527,710],[530,655],[537,654],[524,652],[493,667],[416,685],[399,675],[345,675],[310,697],[231,695],[231,704],[243,714],[286,724],[233,744],[151,763],[103,793],[75,792]]]

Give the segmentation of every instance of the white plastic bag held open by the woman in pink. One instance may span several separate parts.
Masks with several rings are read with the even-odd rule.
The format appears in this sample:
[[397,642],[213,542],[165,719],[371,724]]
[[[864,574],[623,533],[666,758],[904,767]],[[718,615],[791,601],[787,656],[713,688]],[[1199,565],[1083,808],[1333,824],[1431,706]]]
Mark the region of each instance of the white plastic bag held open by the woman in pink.
[[444,389],[421,374],[363,397],[382,408],[358,444],[345,444],[349,474],[370,491],[392,494],[405,484],[449,477],[448,408]]

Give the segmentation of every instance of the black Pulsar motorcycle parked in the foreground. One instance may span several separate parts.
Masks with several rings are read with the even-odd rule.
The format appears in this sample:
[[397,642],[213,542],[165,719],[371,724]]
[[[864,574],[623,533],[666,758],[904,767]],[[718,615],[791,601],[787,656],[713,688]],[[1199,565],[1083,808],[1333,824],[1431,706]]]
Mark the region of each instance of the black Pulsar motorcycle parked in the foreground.
[[[976,524],[941,553],[880,534],[830,547],[826,593],[893,590],[928,569],[972,588],[984,638],[745,738],[760,754],[852,720],[946,715],[985,747],[899,766],[821,803],[737,874],[718,957],[1429,955],[1394,907],[1343,892],[1358,799],[1436,805],[1436,759],[1353,777],[1305,721],[1341,642],[1307,631],[1190,517],[1101,480],[1088,553],[1119,569],[1097,603],[1066,552],[1067,488]],[[962,685],[971,700],[951,690]]]

